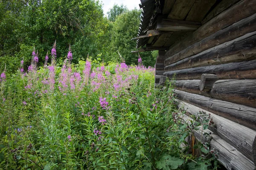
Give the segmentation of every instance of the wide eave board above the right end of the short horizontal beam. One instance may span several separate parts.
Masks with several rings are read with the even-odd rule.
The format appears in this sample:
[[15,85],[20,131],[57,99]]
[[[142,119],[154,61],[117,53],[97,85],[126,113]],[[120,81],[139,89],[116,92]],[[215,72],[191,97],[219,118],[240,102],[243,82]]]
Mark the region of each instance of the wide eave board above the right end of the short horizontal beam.
[[186,21],[201,22],[215,2],[216,0],[196,0],[186,17]]

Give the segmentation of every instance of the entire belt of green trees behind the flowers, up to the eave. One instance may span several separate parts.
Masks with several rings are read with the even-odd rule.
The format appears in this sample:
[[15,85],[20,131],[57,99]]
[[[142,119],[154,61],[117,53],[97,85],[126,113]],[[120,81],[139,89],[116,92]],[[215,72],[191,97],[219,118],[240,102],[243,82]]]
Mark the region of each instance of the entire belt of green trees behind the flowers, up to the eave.
[[[75,63],[89,55],[104,62],[119,62],[122,56],[127,64],[137,64],[131,38],[137,36],[140,14],[115,4],[107,18],[98,0],[0,0],[0,71],[6,63],[7,72],[15,72],[21,59],[26,70],[33,48],[43,65],[55,40],[58,60],[71,44]],[[155,54],[140,55],[144,65],[154,65]]]

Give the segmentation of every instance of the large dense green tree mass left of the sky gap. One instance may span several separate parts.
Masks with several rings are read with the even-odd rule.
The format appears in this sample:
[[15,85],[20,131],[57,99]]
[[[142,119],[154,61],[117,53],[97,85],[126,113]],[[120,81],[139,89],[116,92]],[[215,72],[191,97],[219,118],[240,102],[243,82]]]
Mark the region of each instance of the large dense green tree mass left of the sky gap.
[[35,46],[41,63],[55,40],[58,58],[67,55],[69,44],[75,62],[96,56],[108,25],[96,0],[0,0],[0,14],[0,56],[28,61]]

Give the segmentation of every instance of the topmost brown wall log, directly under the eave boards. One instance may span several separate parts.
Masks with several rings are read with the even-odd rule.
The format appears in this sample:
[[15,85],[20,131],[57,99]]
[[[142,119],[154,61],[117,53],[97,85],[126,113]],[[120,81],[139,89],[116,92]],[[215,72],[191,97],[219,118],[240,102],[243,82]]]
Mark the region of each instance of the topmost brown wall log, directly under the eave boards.
[[189,45],[193,45],[196,42],[203,40],[206,37],[209,37],[215,32],[224,29],[232,25],[233,23],[236,23],[239,20],[249,17],[255,13],[256,0],[241,0],[236,5],[232,6],[226,11],[223,11],[218,16],[212,18],[212,20],[209,20],[209,22],[198,28],[190,36],[172,45],[169,51],[166,52],[166,57],[173,56],[174,54],[177,54],[178,52],[187,48]]

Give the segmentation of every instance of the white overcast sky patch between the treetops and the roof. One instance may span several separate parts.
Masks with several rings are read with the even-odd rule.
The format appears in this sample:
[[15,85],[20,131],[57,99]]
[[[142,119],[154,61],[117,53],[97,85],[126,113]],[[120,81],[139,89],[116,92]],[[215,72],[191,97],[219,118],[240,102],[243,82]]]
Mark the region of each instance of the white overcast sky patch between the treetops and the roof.
[[123,4],[127,6],[128,9],[140,8],[139,6],[140,0],[102,0],[102,3],[103,3],[103,11],[105,15],[109,11],[109,9],[113,7],[115,3],[118,4],[119,6]]

